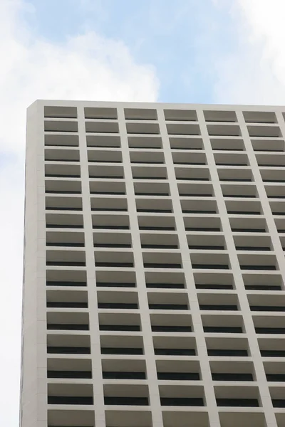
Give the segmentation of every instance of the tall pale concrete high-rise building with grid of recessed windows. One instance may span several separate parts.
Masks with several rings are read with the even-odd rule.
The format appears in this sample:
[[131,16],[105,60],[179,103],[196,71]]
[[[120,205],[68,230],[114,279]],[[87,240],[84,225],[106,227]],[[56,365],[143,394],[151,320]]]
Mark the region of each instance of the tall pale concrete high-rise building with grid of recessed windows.
[[285,108],[28,108],[21,427],[285,426]]

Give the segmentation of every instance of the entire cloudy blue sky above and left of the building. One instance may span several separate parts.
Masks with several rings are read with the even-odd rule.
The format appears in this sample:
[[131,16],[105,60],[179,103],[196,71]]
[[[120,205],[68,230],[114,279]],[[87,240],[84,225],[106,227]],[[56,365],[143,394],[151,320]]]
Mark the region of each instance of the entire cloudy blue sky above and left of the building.
[[284,105],[284,0],[0,0],[0,426],[19,425],[26,107]]

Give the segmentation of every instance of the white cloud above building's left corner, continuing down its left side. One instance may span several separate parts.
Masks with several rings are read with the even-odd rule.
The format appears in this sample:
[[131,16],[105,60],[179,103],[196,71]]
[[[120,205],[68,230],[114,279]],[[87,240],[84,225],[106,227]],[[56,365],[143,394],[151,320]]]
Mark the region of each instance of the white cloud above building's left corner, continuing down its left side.
[[[34,100],[155,101],[155,69],[94,32],[35,38],[21,0],[0,2],[0,425],[18,425],[26,107]],[[29,9],[29,13],[33,13]]]

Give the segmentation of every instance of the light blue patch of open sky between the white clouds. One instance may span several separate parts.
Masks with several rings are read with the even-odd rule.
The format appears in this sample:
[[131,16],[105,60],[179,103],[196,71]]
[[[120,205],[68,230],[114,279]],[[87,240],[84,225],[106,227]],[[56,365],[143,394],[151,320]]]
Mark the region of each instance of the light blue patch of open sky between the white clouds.
[[232,0],[227,7],[212,0],[29,3],[26,19],[48,41],[61,43],[86,31],[123,41],[138,63],[155,67],[162,102],[214,102],[214,58],[237,43]]

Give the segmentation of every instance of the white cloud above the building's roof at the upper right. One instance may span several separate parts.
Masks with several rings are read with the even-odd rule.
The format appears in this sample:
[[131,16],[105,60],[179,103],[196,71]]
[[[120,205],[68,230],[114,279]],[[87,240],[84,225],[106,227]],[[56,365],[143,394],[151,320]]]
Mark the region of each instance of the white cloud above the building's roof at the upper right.
[[215,60],[215,101],[283,105],[284,0],[236,0],[230,13],[237,47]]

